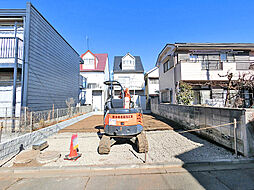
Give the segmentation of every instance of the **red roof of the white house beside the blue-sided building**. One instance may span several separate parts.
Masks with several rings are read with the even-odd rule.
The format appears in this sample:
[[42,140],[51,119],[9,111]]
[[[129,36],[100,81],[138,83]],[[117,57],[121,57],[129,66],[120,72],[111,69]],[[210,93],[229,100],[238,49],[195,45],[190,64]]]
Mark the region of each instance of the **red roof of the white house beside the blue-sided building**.
[[[98,59],[97,67],[96,67],[96,69],[82,69],[83,64],[80,64],[80,71],[90,71],[90,72],[92,72],[92,71],[104,71],[106,63],[107,63],[107,59],[108,59],[108,54],[107,53],[94,54],[90,50],[88,50],[87,52],[90,52],[92,55],[94,55]],[[83,56],[86,53],[82,54],[80,57],[83,58]]]

